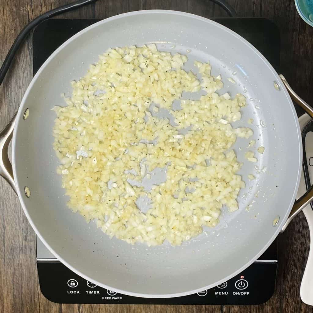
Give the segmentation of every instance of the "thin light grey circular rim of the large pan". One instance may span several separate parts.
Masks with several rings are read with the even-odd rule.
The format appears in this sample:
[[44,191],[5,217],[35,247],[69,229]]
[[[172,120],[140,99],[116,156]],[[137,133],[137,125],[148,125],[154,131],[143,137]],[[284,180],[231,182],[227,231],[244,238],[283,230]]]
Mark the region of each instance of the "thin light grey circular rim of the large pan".
[[296,194],[299,188],[299,184],[300,184],[300,175],[301,175],[301,168],[302,168],[302,140],[301,140],[301,132],[300,132],[300,125],[298,122],[298,117],[296,115],[296,111],[294,108],[294,105],[291,101],[291,98],[285,88],[285,86],[281,83],[281,80],[277,74],[277,72],[275,71],[275,69],[272,67],[272,65],[267,61],[266,58],[264,58],[264,56],[256,49],[254,48],[254,46],[252,46],[247,40],[245,40],[244,38],[242,38],[240,35],[238,35],[237,33],[233,32],[232,30],[230,30],[229,28],[218,24],[215,21],[212,21],[208,18],[203,18],[200,17],[198,15],[195,14],[191,14],[191,13],[185,13],[185,12],[180,12],[180,11],[172,11],[172,10],[141,10],[141,11],[134,11],[134,12],[128,12],[128,13],[122,13],[119,15],[115,15],[113,17],[110,18],[106,18],[104,20],[101,20],[97,23],[94,23],[92,25],[90,25],[87,28],[84,28],[83,30],[81,30],[80,32],[76,33],[74,36],[72,36],[71,38],[69,38],[67,41],[64,42],[64,44],[62,44],[58,49],[56,49],[54,51],[53,54],[51,54],[49,56],[49,58],[44,62],[44,64],[40,67],[40,69],[38,70],[38,72],[35,74],[35,76],[33,77],[33,79],[31,80],[24,96],[23,99],[21,101],[21,105],[18,109],[18,115],[17,115],[17,123],[16,126],[14,128],[13,131],[13,139],[12,139],[12,165],[13,165],[13,175],[14,175],[14,179],[16,182],[16,186],[17,186],[17,193],[18,193],[18,198],[21,202],[23,211],[29,221],[29,223],[31,224],[32,228],[34,229],[34,231],[36,232],[36,234],[38,235],[38,237],[40,238],[40,240],[44,243],[44,245],[49,249],[49,251],[54,254],[61,263],[63,263],[66,267],[68,267],[70,270],[72,270],[74,273],[76,273],[77,275],[83,277],[86,280],[92,281],[93,283],[95,283],[96,285],[106,288],[106,289],[112,289],[112,287],[105,285],[99,281],[90,279],[87,275],[84,275],[83,273],[81,273],[79,270],[75,269],[71,264],[69,264],[66,260],[64,260],[62,257],[60,257],[59,254],[57,254],[49,245],[49,243],[44,239],[44,237],[41,235],[41,233],[38,231],[38,229],[36,228],[35,224],[33,223],[33,220],[31,219],[30,215],[28,214],[28,210],[27,210],[27,206],[24,202],[24,198],[23,197],[23,190],[21,190],[20,188],[18,188],[19,185],[19,180],[18,180],[18,173],[16,172],[16,166],[15,166],[15,162],[17,159],[17,155],[16,155],[16,137],[17,137],[17,133],[18,133],[18,125],[19,125],[19,121],[21,121],[22,117],[23,117],[23,107],[24,104],[27,100],[28,94],[30,92],[30,90],[32,89],[33,85],[36,83],[39,75],[41,74],[41,72],[43,71],[43,69],[47,66],[47,64],[54,58],[54,56],[56,54],[59,53],[59,51],[61,51],[66,45],[70,44],[74,39],[76,39],[77,37],[79,37],[80,35],[82,35],[83,33],[88,32],[89,30],[98,27],[101,24],[105,24],[108,23],[110,21],[113,20],[117,20],[120,18],[124,18],[126,16],[131,16],[131,15],[140,15],[140,14],[156,14],[156,13],[162,13],[162,14],[175,14],[175,15],[181,15],[181,16],[185,16],[186,18],[193,18],[193,19],[198,19],[201,20],[205,23],[209,23],[209,24],[213,24],[215,27],[221,28],[223,31],[228,32],[229,34],[231,34],[232,36],[235,36],[238,40],[240,40],[243,44],[247,45],[248,48],[250,48],[255,54],[257,54],[257,56],[264,62],[264,66],[267,66],[268,69],[273,73],[273,75],[277,78],[277,81],[280,82],[280,90],[281,92],[284,92],[285,96],[286,96],[286,100],[288,100],[289,105],[290,105],[290,109],[293,113],[293,116],[295,118],[295,124],[297,127],[297,133],[298,133],[298,137],[299,137],[299,164],[298,164],[298,178],[297,181],[295,183],[295,190],[294,193],[292,195],[291,201],[290,201],[290,205],[289,208],[286,210],[285,216],[280,218],[280,222],[279,224],[276,226],[276,230],[273,233],[273,236],[270,238],[270,240],[268,241],[268,243],[263,247],[263,249],[261,249],[259,251],[258,254],[256,254],[252,259],[250,259],[248,262],[246,262],[243,266],[241,266],[241,268],[239,268],[237,271],[233,272],[231,275],[228,275],[227,277],[213,283],[207,286],[203,286],[200,288],[197,288],[195,290],[189,290],[189,291],[184,291],[184,292],[179,292],[179,293],[173,293],[173,294],[142,294],[142,293],[136,293],[136,292],[132,292],[132,291],[127,291],[127,290],[121,290],[121,289],[116,289],[113,288],[113,290],[117,291],[118,293],[124,294],[124,295],[130,295],[130,296],[135,296],[135,297],[144,297],[144,298],[173,298],[173,297],[180,297],[180,296],[185,296],[185,295],[191,295],[191,294],[195,294],[197,292],[203,291],[203,290],[207,290],[210,288],[213,288],[214,286],[227,281],[231,278],[233,278],[234,276],[238,275],[240,272],[242,272],[244,269],[246,269],[249,265],[251,265],[261,254],[264,253],[264,251],[269,247],[269,245],[274,241],[274,239],[277,237],[277,235],[280,233],[280,229],[281,226],[285,223],[285,221],[287,220],[289,213],[291,211],[291,208],[293,206],[293,203],[295,202],[295,198],[296,198]]

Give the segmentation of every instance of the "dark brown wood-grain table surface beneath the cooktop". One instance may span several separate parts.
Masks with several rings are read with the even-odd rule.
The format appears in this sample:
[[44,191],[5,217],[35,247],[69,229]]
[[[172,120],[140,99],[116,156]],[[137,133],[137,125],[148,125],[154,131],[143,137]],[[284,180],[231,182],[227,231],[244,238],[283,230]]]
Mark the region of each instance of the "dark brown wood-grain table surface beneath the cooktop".
[[[13,40],[33,18],[69,0],[0,0],[0,62]],[[281,72],[313,105],[313,28],[296,12],[293,0],[229,0],[239,17],[265,17],[281,31]],[[143,9],[174,9],[205,17],[226,17],[205,0],[100,0],[62,18],[106,18]],[[32,45],[28,37],[0,87],[0,128],[18,108],[32,79]],[[286,169],[287,170],[287,169]],[[274,296],[259,306],[61,305],[41,294],[36,270],[35,233],[8,184],[0,179],[0,313],[69,312],[313,312],[301,302],[299,288],[309,249],[309,231],[301,213],[279,236],[279,266]]]

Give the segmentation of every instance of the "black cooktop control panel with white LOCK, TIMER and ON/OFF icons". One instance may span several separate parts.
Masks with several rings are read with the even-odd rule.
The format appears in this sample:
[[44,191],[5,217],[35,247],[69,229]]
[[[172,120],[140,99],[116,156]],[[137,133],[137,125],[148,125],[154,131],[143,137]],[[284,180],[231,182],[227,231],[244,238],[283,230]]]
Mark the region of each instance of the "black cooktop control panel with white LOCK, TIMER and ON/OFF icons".
[[256,305],[274,293],[277,262],[256,261],[217,287],[166,299],[132,297],[101,288],[60,262],[37,262],[37,267],[41,292],[57,303]]

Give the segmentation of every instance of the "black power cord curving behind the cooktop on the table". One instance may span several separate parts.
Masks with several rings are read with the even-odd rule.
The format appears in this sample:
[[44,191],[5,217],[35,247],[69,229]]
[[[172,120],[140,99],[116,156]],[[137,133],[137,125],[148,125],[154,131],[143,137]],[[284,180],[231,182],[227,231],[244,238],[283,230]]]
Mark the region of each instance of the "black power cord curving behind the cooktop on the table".
[[[98,0],[80,0],[80,1],[76,1],[74,3],[69,3],[66,4],[62,7],[59,8],[55,8],[52,9],[46,13],[43,13],[41,15],[39,15],[37,18],[35,18],[33,21],[31,21],[30,23],[28,23],[23,30],[18,34],[17,38],[15,39],[12,47],[10,48],[6,58],[3,61],[3,64],[1,66],[0,69],[0,85],[2,84],[5,75],[8,72],[8,69],[13,61],[13,58],[18,50],[18,48],[20,47],[20,45],[22,44],[22,42],[24,41],[24,39],[26,38],[26,36],[28,35],[28,33],[34,28],[36,27],[38,24],[40,24],[41,22],[43,22],[44,20],[51,18],[55,15],[61,14],[61,13],[65,13],[67,11],[71,11],[74,9],[78,9],[86,4],[89,3],[93,3],[95,1]],[[229,5],[225,0],[209,0],[213,3],[216,3],[218,6],[220,6],[221,8],[223,8],[227,14],[230,17],[235,17],[236,16],[236,12],[235,10],[232,8],[231,5]]]

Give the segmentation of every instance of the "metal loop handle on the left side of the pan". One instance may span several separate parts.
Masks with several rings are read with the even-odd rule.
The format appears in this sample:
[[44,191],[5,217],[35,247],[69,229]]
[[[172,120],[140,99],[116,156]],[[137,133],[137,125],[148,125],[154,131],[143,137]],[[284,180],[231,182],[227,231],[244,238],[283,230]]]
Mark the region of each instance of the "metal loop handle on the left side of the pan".
[[0,176],[10,184],[15,193],[17,193],[17,191],[13,177],[12,164],[8,157],[8,148],[13,135],[16,114],[17,113],[13,115],[8,125],[0,131]]

